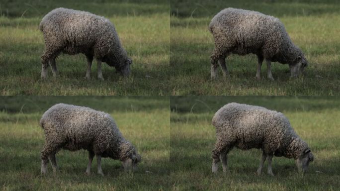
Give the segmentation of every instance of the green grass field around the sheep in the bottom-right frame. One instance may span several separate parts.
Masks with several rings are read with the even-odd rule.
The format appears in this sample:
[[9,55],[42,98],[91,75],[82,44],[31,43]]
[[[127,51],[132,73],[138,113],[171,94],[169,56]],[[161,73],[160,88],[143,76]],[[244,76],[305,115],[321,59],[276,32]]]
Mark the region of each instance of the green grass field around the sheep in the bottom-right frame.
[[[283,112],[295,131],[308,142],[315,156],[307,174],[297,172],[293,159],[274,157],[274,177],[257,170],[261,152],[233,149],[230,172],[211,174],[214,113],[228,102],[265,106]],[[173,190],[195,191],[336,191],[340,183],[338,97],[177,96],[170,100],[170,162]]]

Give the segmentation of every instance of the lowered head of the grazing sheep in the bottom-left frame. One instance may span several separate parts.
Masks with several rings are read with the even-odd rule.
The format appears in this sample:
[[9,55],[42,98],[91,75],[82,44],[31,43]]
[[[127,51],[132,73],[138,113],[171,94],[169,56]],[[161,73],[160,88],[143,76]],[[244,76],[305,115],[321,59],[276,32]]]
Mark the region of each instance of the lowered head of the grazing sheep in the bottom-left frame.
[[121,159],[122,165],[126,171],[136,171],[138,163],[141,162],[141,156],[137,153],[136,148],[131,143],[127,144],[129,149],[127,151],[123,151],[125,153]]

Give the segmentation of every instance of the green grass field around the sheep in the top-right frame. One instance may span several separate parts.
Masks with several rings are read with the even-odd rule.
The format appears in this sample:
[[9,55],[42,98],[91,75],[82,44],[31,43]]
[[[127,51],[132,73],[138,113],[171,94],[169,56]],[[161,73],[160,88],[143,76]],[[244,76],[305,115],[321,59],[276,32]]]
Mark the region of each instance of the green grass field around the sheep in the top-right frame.
[[[212,17],[225,7],[260,11],[278,17],[309,66],[298,79],[287,65],[272,64],[275,81],[255,80],[255,55],[230,55],[230,78],[210,79],[214,40],[208,31]],[[338,0],[171,0],[170,66],[172,95],[339,95],[340,4]],[[264,78],[263,78],[264,77]]]

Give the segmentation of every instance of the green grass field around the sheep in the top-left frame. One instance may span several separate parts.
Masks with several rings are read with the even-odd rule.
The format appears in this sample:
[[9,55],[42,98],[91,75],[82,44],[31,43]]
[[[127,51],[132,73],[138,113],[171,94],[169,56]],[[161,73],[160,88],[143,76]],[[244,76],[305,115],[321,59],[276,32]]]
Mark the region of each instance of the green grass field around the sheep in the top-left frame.
[[[102,65],[104,82],[85,80],[86,58],[61,55],[60,76],[41,80],[40,56],[44,49],[42,17],[56,7],[86,10],[115,24],[133,60],[125,79]],[[0,95],[169,95],[170,5],[167,0],[1,0]],[[149,76],[149,77],[147,77]]]

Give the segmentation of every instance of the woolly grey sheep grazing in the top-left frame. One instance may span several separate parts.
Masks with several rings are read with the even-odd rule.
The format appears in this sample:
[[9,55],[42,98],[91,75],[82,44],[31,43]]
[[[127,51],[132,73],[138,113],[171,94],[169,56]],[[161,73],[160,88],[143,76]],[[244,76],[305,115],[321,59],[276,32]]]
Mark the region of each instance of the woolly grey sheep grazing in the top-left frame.
[[41,56],[41,78],[47,77],[48,63],[53,76],[58,75],[56,58],[60,53],[85,54],[86,79],[90,79],[93,57],[97,60],[99,80],[104,80],[101,62],[115,67],[123,76],[129,75],[132,60],[127,56],[114,25],[108,19],[85,11],[56,8],[43,17],[39,28],[45,40]]

